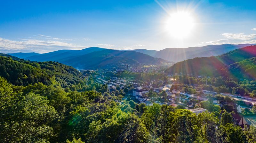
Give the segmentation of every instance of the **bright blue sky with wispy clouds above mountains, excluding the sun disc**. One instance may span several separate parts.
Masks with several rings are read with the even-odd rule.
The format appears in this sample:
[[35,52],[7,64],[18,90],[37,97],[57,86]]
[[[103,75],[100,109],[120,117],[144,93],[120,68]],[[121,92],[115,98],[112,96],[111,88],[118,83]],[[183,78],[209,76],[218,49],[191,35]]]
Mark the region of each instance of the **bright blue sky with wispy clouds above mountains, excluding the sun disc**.
[[[0,52],[256,43],[255,5],[253,0],[1,1]],[[177,11],[194,20],[186,37],[163,28]]]

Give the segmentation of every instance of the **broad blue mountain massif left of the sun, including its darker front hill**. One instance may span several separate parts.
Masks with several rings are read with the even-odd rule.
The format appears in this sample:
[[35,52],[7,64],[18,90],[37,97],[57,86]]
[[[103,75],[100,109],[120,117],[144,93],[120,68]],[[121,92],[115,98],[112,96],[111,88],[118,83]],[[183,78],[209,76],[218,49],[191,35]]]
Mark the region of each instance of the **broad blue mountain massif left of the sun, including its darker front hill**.
[[78,69],[112,68],[129,65],[159,65],[171,63],[161,58],[154,58],[135,51],[120,51],[99,47],[83,50],[60,50],[28,57],[30,61],[58,61]]

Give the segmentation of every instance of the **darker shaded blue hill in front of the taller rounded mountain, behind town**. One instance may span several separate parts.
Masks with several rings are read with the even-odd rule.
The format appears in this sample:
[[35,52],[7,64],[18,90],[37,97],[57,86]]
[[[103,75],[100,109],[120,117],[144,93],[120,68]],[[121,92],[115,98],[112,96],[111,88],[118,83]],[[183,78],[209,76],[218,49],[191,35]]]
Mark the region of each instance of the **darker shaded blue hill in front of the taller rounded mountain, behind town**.
[[111,68],[126,64],[134,66],[139,64],[157,65],[161,62],[168,61],[134,51],[123,52],[119,50],[106,49],[82,56],[73,56],[67,59],[61,59],[60,62],[75,68]]

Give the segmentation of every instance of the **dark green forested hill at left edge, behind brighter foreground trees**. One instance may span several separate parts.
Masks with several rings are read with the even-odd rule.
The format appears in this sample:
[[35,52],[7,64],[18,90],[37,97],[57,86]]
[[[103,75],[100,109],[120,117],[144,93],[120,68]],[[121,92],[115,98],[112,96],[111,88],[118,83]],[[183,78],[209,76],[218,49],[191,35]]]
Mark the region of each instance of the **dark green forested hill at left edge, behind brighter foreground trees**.
[[58,62],[15,61],[3,56],[0,56],[0,76],[14,85],[25,86],[37,82],[50,85],[57,82],[63,88],[83,80],[78,70]]

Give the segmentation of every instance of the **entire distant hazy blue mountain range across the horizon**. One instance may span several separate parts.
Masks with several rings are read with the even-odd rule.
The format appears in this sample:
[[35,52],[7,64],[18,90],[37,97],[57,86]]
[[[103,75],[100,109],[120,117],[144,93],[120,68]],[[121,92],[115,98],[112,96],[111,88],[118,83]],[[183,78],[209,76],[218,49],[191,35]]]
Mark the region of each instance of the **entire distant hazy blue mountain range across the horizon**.
[[179,62],[195,57],[210,57],[227,53],[237,48],[255,44],[222,44],[188,48],[165,48],[160,51],[135,49],[112,50],[100,47],[89,47],[82,50],[58,50],[54,52],[13,53],[12,56],[30,61],[58,61],[74,68],[107,68],[116,64],[157,65],[162,62]]

